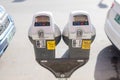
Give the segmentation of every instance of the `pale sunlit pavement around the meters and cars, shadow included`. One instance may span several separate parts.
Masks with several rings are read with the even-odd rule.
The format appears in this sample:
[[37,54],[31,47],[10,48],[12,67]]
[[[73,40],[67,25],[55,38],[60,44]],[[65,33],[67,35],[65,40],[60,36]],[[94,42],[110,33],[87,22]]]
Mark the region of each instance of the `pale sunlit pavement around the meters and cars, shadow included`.
[[[75,71],[69,80],[120,80],[119,51],[111,46],[104,32],[104,23],[113,0],[0,0],[13,16],[16,34],[0,58],[0,80],[57,80],[55,76],[35,61],[34,49],[28,39],[28,29],[33,14],[38,11],[53,13],[61,30],[69,13],[75,10],[89,12],[96,28],[96,38],[91,45],[90,60]],[[63,48],[64,47],[64,48]],[[57,57],[67,49],[61,40]]]

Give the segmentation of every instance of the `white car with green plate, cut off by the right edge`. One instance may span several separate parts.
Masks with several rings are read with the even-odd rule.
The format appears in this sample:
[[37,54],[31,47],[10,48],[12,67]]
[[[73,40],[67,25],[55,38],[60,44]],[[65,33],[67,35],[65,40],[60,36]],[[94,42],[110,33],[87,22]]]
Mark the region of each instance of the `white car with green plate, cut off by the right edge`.
[[108,11],[105,32],[112,44],[120,50],[120,0],[115,0]]

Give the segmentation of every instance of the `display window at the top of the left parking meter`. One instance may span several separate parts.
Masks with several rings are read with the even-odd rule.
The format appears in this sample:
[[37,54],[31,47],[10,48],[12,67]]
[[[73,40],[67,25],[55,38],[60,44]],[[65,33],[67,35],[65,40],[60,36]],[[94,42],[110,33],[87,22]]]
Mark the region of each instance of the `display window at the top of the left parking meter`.
[[34,26],[50,26],[50,18],[48,16],[37,16]]

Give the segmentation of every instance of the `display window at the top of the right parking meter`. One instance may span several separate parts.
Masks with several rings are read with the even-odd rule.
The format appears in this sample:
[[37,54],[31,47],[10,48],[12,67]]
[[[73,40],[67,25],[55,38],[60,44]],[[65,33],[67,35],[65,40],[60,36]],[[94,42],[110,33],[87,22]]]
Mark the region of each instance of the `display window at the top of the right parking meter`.
[[73,17],[73,25],[74,25],[74,26],[78,26],[78,25],[89,25],[87,15],[75,15],[75,16]]

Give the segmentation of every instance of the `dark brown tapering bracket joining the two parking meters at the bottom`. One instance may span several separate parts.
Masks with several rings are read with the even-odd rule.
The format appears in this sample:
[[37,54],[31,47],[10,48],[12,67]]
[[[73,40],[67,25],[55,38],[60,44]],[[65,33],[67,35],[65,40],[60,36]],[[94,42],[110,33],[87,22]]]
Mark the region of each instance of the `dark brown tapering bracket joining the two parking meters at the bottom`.
[[66,79],[69,78],[75,70],[83,66],[87,61],[88,59],[81,60],[60,58],[39,60],[38,63],[51,71],[56,78]]

